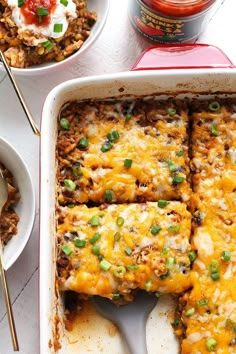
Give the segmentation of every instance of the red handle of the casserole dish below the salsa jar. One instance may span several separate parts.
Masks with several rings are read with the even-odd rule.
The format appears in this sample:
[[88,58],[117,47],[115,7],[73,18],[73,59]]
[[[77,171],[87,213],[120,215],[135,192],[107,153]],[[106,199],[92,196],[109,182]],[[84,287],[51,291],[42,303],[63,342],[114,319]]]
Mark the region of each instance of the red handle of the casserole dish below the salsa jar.
[[131,70],[235,68],[225,53],[208,44],[168,44],[150,47]]

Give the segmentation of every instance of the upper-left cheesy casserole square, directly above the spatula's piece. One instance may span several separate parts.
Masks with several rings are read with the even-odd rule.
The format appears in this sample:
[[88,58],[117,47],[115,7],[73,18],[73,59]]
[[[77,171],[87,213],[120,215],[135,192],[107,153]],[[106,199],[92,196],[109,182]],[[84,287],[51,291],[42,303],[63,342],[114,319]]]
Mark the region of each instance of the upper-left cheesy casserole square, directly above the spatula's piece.
[[128,203],[190,196],[185,101],[72,102],[59,117],[58,202]]

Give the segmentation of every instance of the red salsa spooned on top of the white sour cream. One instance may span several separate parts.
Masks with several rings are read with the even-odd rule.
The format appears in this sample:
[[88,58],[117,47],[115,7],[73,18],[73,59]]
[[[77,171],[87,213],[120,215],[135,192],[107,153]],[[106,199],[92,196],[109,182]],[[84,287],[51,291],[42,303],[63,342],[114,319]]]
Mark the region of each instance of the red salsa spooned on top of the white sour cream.
[[21,0],[20,10],[28,25],[45,26],[55,10],[56,0]]

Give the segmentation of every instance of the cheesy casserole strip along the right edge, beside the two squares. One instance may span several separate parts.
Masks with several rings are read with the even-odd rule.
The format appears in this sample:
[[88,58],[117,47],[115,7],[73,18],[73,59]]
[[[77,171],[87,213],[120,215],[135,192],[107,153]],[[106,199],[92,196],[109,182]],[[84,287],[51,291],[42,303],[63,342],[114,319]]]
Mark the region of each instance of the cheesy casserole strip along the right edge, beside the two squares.
[[[212,118],[218,134],[212,135]],[[183,354],[235,353],[236,341],[236,130],[231,113],[222,107],[209,118],[206,112],[193,115],[193,161],[199,161],[193,176],[193,247],[198,251],[193,267],[193,289],[185,294],[183,320],[186,338]],[[200,225],[199,225],[200,223]],[[230,260],[224,260],[224,251]],[[212,264],[218,276],[212,278]],[[199,305],[203,301],[203,305]],[[194,309],[187,316],[188,309]],[[215,343],[209,349],[209,341]]]

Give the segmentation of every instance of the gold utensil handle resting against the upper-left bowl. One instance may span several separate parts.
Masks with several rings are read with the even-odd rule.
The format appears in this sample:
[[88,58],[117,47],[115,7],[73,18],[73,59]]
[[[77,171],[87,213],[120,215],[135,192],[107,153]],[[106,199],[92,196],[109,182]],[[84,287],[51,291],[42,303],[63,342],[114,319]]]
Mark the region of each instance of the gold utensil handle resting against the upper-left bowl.
[[1,59],[1,62],[3,63],[3,65],[4,65],[5,69],[6,69],[7,75],[8,75],[8,77],[9,77],[9,79],[10,79],[10,81],[11,81],[13,87],[14,87],[14,90],[15,90],[15,92],[17,94],[17,97],[19,98],[21,106],[22,106],[22,108],[23,108],[23,110],[24,110],[24,112],[26,114],[26,117],[27,117],[27,119],[28,119],[28,121],[30,123],[30,126],[31,126],[34,134],[40,136],[39,128],[37,127],[36,123],[34,122],[34,119],[33,119],[32,115],[31,115],[31,113],[29,111],[29,108],[27,107],[27,105],[25,103],[25,99],[22,96],[22,93],[20,92],[20,89],[19,89],[19,87],[18,87],[18,85],[16,83],[16,80],[14,79],[14,76],[11,73],[11,69],[10,69],[9,65],[7,64],[7,61],[6,61],[6,59],[4,57],[4,54],[3,54],[3,52],[1,50],[0,50],[0,59]]

